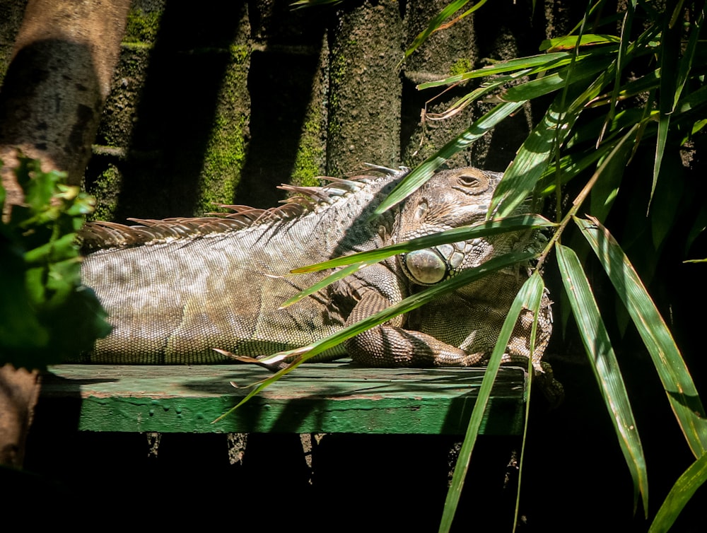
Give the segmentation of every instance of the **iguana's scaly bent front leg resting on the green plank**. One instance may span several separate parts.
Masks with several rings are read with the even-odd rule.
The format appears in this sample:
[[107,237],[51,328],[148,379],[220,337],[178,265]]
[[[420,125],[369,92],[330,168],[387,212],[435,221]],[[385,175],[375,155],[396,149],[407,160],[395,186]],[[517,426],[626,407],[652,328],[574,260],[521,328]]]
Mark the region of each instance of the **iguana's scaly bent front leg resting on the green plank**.
[[[363,293],[346,320],[346,326],[370,317],[390,305],[374,289]],[[467,353],[433,336],[402,328],[402,317],[368,329],[346,341],[349,356],[361,365],[402,366],[472,366],[486,358],[484,353]]]

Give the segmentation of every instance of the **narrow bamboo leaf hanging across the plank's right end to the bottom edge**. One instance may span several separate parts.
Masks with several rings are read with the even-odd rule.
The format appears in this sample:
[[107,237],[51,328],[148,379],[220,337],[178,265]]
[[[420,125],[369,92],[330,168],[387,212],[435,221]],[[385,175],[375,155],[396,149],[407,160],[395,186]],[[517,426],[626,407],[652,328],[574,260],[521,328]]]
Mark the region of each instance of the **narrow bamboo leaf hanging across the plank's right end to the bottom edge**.
[[474,450],[474,444],[476,443],[479,428],[481,427],[481,420],[486,410],[486,404],[488,404],[489,397],[491,396],[493,380],[496,379],[498,368],[501,365],[501,357],[503,357],[503,353],[508,346],[508,339],[510,339],[510,335],[513,333],[513,328],[518,321],[520,312],[524,308],[537,307],[533,302],[538,298],[542,298],[542,291],[542,278],[540,278],[539,275],[533,275],[523,284],[515,300],[513,300],[513,303],[510,305],[510,310],[508,310],[506,320],[503,322],[501,333],[498,335],[498,341],[496,341],[496,346],[493,347],[491,358],[489,358],[489,364],[486,367],[486,373],[484,373],[484,380],[481,381],[481,387],[479,388],[479,396],[477,397],[476,403],[474,403],[474,410],[469,419],[467,433],[464,436],[464,443],[462,443],[462,449],[460,450],[459,458],[457,459],[457,464],[452,476],[452,484],[447,493],[447,499],[445,500],[444,513],[442,515],[442,521],[440,522],[440,533],[448,532],[452,527],[452,520],[462,494],[464,479],[467,476],[472,451]]

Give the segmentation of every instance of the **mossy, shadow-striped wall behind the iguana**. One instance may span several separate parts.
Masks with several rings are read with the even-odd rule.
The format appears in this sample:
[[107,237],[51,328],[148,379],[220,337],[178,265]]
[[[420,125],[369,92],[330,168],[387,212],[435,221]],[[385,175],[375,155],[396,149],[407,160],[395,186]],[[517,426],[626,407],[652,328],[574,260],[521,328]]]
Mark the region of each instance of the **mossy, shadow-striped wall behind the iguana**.
[[[25,1],[0,3],[0,79]],[[533,11],[530,0],[497,0],[401,62],[446,1],[349,0],[295,11],[288,4],[133,1],[86,169],[95,218],[269,207],[285,197],[280,183],[318,185],[320,175],[364,163],[414,166],[490,108],[475,103],[432,119],[469,86],[440,95],[416,90],[418,83],[535,53],[547,26],[567,18],[557,1]],[[531,112],[448,165],[504,170]]]

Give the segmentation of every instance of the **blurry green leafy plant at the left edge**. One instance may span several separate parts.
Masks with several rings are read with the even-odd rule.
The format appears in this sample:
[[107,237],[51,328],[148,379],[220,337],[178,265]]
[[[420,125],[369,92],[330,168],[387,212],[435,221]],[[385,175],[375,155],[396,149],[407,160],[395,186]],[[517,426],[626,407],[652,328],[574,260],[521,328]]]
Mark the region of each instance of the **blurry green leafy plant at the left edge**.
[[105,311],[81,286],[76,230],[93,201],[42,172],[38,160],[16,169],[25,203],[0,222],[0,364],[44,368],[93,347],[110,332]]

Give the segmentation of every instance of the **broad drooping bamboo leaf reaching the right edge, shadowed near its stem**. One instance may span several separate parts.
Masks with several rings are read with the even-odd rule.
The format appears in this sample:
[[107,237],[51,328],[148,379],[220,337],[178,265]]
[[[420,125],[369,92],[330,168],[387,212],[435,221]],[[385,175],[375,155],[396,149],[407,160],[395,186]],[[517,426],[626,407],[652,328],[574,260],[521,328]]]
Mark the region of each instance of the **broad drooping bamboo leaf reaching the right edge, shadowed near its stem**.
[[599,258],[633,324],[648,349],[653,365],[695,457],[707,449],[707,421],[699,394],[670,329],[650,299],[633,265],[609,231],[595,218],[574,218]]

